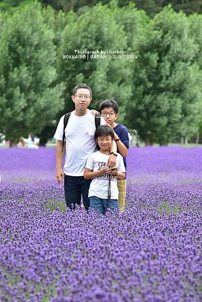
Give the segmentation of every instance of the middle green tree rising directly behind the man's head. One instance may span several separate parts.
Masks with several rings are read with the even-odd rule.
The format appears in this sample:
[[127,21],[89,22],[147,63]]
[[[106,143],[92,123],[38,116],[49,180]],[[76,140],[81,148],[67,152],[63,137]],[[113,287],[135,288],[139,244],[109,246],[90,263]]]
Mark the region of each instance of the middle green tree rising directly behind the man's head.
[[[63,55],[76,55],[80,51],[126,50],[127,39],[122,26],[116,23],[114,11],[116,3],[111,6],[97,5],[91,12],[80,16],[77,22],[68,24],[63,33],[59,49],[58,73],[60,81],[65,82],[65,112],[74,108],[71,101],[73,88],[78,83],[87,83],[93,91],[92,108],[98,108],[101,101],[115,99],[120,105],[120,119],[124,120],[125,107],[131,95],[130,61],[121,59],[91,58],[63,59]],[[111,54],[111,57],[113,55]]]

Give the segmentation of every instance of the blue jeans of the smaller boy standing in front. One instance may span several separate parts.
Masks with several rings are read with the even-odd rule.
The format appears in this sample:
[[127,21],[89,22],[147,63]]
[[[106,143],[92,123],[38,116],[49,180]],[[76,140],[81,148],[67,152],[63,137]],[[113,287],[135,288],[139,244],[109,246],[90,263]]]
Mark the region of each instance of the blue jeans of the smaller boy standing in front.
[[117,199],[104,199],[99,198],[97,196],[91,196],[89,197],[90,200],[90,207],[94,209],[95,211],[99,211],[99,214],[105,214],[107,208],[110,208],[112,211],[114,211],[115,208],[119,209],[118,206],[118,200]]

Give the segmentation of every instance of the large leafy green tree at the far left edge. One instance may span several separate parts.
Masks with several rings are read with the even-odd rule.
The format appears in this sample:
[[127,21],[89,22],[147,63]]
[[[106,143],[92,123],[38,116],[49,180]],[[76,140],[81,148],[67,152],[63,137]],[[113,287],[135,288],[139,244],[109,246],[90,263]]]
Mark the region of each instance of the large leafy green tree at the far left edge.
[[1,13],[0,27],[0,128],[12,141],[40,136],[63,106],[53,31],[36,3],[13,16]]

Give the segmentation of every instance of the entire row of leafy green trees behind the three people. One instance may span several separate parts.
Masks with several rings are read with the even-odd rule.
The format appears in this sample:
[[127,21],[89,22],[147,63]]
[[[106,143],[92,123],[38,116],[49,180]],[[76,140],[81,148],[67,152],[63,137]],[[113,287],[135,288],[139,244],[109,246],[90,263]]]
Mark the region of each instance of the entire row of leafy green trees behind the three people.
[[[159,8],[165,3],[155,1]],[[31,131],[45,142],[74,109],[71,94],[82,82],[92,88],[91,108],[115,99],[118,121],[148,144],[201,131],[201,15],[168,6],[150,19],[133,3],[121,5],[113,0],[65,14],[35,3],[0,14],[0,132],[15,140]],[[96,53],[87,58],[82,51]]]

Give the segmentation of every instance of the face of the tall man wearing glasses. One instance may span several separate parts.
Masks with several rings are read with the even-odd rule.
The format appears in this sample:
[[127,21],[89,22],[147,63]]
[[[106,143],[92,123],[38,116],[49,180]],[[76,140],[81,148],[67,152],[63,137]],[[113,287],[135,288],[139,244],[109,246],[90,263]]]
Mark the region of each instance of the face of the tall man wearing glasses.
[[86,110],[92,101],[92,97],[88,89],[79,88],[75,96],[72,96],[72,100],[75,103],[75,109]]

